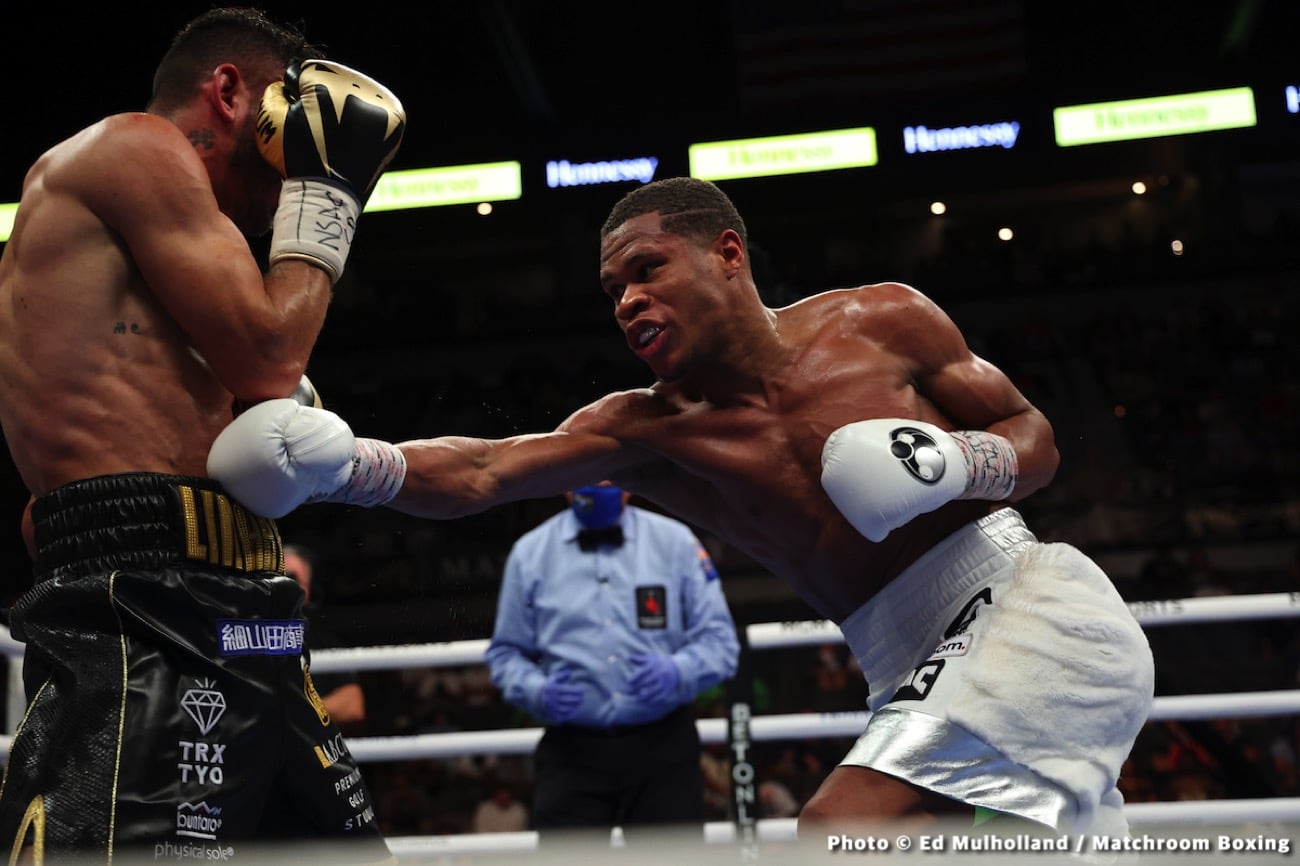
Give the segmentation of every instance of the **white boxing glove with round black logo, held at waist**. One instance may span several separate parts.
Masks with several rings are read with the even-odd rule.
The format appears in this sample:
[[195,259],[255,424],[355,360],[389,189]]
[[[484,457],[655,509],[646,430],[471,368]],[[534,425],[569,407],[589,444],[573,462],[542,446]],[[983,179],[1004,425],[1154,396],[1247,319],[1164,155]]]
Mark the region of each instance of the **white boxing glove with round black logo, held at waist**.
[[822,488],[871,541],[953,499],[1005,499],[1017,472],[1005,437],[897,417],[846,424],[822,449]]

